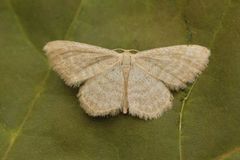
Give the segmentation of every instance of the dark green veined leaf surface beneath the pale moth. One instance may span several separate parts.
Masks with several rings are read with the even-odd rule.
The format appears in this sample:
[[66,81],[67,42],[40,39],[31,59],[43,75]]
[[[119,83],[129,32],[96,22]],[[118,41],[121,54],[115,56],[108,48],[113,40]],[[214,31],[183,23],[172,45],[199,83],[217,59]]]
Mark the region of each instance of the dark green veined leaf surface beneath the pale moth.
[[[0,0],[0,159],[239,159],[239,15],[238,0]],[[56,39],[212,55],[161,118],[92,118],[48,67],[42,47]]]

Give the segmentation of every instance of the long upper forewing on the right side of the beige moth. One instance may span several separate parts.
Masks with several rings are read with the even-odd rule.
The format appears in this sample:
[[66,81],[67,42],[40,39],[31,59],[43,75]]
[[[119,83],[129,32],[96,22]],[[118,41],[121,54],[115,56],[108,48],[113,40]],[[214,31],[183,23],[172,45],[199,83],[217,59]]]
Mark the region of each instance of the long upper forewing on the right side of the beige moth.
[[178,90],[205,69],[209,55],[210,51],[199,45],[176,45],[141,51],[135,63],[170,89]]

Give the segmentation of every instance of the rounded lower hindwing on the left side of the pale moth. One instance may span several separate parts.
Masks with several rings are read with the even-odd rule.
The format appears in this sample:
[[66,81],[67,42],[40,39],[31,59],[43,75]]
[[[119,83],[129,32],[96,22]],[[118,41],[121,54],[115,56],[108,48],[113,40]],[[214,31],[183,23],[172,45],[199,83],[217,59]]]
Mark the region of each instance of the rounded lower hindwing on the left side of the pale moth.
[[95,76],[80,88],[79,100],[91,116],[115,115],[122,109],[124,78],[122,68],[116,65],[110,71]]

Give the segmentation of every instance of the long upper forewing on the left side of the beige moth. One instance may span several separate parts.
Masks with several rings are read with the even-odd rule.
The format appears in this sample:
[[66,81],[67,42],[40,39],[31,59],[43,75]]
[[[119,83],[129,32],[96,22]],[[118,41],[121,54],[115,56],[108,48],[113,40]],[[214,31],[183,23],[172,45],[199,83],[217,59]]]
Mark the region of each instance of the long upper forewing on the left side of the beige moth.
[[72,41],[52,41],[44,50],[53,69],[70,86],[78,86],[119,61],[115,51]]

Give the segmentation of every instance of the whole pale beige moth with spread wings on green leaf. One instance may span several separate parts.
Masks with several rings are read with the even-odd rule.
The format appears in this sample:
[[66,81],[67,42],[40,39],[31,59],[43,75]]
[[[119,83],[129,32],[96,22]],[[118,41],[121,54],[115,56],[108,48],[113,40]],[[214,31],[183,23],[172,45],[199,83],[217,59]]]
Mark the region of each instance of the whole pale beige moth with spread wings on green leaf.
[[184,89],[207,66],[210,50],[175,45],[139,51],[106,49],[73,41],[47,43],[49,63],[69,86],[79,87],[80,106],[91,116],[129,113],[160,117],[172,106],[170,92]]

